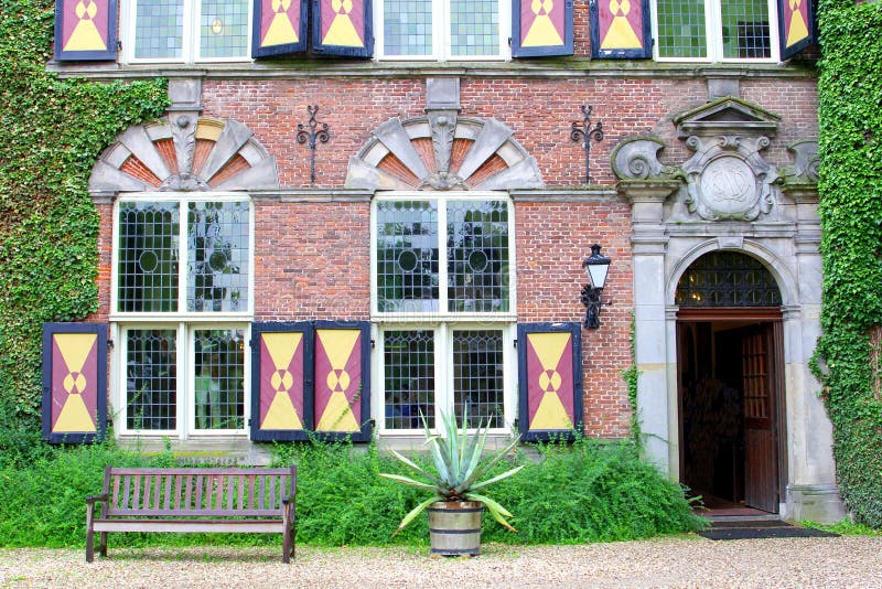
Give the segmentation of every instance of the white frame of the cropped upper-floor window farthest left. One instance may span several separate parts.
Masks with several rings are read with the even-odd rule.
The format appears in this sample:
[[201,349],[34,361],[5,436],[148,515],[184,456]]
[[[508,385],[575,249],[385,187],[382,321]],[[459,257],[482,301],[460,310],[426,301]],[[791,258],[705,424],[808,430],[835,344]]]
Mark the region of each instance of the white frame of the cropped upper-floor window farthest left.
[[251,34],[254,31],[254,2],[259,0],[246,0],[246,54],[230,57],[203,57],[202,44],[200,41],[200,21],[202,19],[202,0],[182,0],[184,10],[183,31],[181,33],[181,57],[136,57],[137,41],[137,18],[138,1],[123,0],[121,7],[121,21],[123,32],[120,34],[122,41],[121,61],[128,64],[196,64],[196,63],[248,63],[254,61],[251,57]]

